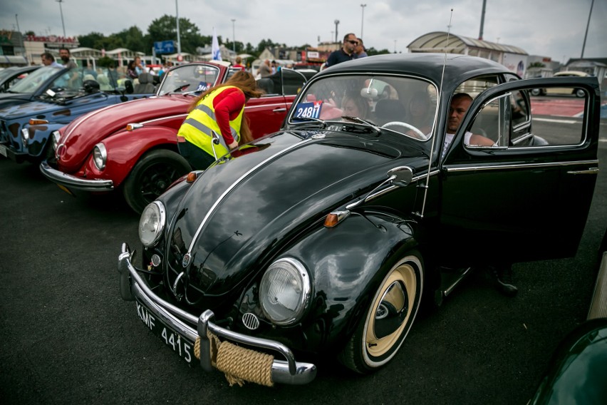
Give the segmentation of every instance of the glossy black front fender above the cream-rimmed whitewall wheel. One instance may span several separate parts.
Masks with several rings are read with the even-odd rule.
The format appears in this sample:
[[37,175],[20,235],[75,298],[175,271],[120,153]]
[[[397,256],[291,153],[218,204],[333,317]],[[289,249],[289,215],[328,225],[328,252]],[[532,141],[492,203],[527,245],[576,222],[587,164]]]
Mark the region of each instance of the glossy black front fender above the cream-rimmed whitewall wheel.
[[301,260],[312,297],[302,326],[311,347],[344,344],[356,329],[391,262],[417,247],[412,221],[379,211],[353,212],[318,227],[279,257]]

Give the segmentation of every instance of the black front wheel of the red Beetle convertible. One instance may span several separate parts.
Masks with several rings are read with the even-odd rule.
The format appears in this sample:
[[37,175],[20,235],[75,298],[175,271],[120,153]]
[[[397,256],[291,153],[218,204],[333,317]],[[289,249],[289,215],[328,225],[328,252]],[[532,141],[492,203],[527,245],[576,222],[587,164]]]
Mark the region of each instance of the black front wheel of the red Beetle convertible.
[[135,212],[141,213],[147,204],[190,170],[190,163],[172,150],[157,149],[145,153],[125,180],[125,200]]

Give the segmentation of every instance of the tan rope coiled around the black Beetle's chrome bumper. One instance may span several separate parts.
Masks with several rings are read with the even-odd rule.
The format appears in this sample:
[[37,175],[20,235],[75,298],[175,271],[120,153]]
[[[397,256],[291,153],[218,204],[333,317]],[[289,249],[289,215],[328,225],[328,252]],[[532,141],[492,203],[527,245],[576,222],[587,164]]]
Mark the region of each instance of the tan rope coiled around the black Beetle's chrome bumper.
[[[207,331],[211,347],[211,364],[222,371],[229,385],[242,386],[244,381],[265,386],[274,386],[272,363],[274,356],[239,347],[231,342],[222,342],[219,337]],[[194,356],[200,359],[200,338],[194,344]]]

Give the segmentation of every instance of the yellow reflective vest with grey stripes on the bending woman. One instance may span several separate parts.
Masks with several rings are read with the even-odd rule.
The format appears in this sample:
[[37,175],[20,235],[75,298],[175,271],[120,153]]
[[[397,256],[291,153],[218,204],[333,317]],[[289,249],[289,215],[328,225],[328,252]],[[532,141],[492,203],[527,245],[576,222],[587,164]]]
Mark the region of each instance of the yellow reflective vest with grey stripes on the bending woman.
[[[213,100],[222,91],[227,90],[228,88],[237,88],[235,86],[226,86],[219,89],[219,91],[212,91],[207,94],[206,97],[200,100],[196,107],[190,111],[190,113],[185,118],[185,121],[182,123],[179,128],[179,132],[177,136],[182,136],[190,143],[193,143],[198,148],[204,150],[204,152],[213,156],[213,148],[212,148],[212,133],[213,131],[219,135],[219,145],[215,145],[215,153],[217,157],[225,155],[228,153],[228,148],[225,143],[224,137],[222,136],[222,131],[219,129],[219,125],[215,120],[215,109],[213,107]],[[244,106],[242,106],[242,110],[238,114],[234,120],[229,121],[229,126],[232,131],[232,137],[234,137],[237,142],[240,140],[240,125],[242,123],[242,115],[244,114]]]

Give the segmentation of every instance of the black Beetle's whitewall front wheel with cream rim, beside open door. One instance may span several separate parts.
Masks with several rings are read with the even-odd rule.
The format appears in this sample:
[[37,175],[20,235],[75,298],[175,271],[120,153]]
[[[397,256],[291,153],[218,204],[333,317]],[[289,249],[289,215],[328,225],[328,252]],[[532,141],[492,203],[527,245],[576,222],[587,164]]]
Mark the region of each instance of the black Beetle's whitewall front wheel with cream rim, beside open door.
[[418,252],[410,252],[385,272],[365,316],[338,356],[341,364],[368,374],[395,356],[420,307],[423,275]]

